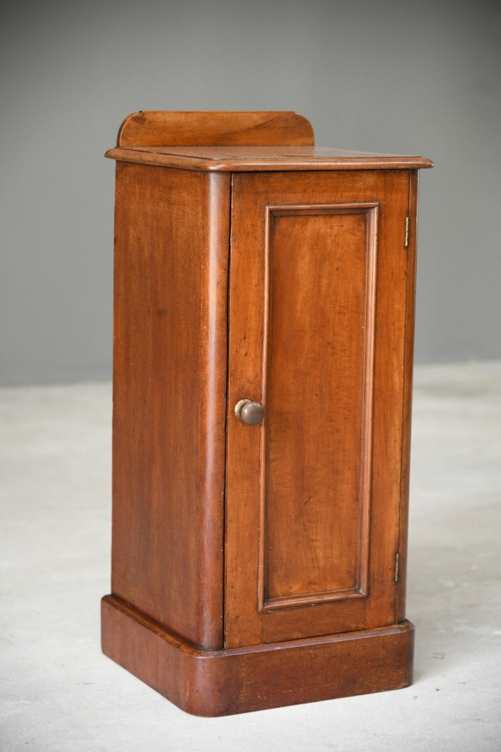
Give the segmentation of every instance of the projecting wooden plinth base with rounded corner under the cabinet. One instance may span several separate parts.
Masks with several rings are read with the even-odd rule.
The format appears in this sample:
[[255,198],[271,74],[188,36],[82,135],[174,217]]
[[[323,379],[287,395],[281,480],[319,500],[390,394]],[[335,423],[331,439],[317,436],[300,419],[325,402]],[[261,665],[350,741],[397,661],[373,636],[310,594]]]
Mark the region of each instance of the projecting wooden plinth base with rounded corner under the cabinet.
[[412,681],[414,626],[231,650],[200,650],[113,596],[101,602],[103,652],[182,710],[219,716],[396,690]]

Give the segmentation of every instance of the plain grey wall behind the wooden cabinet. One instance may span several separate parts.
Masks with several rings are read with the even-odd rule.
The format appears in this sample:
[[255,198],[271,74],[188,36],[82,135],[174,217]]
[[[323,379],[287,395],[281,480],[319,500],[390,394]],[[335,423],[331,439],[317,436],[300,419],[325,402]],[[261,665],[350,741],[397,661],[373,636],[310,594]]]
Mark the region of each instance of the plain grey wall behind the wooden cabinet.
[[416,359],[501,356],[499,2],[6,2],[0,383],[111,373],[113,162],[139,109],[291,109],[430,156]]

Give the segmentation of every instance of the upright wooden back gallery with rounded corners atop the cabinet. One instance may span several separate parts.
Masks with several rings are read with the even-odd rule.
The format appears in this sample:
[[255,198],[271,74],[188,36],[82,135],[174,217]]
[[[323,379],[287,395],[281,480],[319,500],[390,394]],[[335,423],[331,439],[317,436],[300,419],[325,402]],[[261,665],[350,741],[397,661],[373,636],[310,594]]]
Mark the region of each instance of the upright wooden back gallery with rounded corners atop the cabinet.
[[295,112],[140,111],[125,118],[117,146],[301,146],[313,129]]

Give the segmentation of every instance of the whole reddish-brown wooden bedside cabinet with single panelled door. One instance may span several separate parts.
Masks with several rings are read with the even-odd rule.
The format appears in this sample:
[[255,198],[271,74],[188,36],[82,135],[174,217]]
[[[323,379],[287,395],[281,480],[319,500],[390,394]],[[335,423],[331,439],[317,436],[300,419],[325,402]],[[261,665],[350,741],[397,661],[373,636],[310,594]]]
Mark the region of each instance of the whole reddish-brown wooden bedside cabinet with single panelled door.
[[416,156],[290,112],[119,131],[104,653],[186,711],[389,690],[405,617]]

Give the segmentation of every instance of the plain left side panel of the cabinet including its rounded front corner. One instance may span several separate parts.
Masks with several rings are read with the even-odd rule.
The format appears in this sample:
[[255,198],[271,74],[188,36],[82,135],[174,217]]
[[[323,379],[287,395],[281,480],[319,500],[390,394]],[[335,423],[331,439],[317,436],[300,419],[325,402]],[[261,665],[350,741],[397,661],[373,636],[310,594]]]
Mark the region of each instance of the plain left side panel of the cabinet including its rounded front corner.
[[117,164],[112,590],[201,647],[222,644],[228,202],[226,176]]

